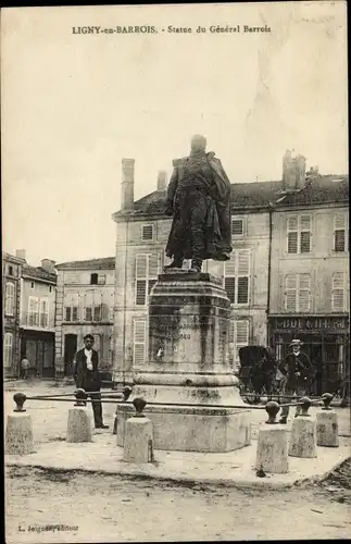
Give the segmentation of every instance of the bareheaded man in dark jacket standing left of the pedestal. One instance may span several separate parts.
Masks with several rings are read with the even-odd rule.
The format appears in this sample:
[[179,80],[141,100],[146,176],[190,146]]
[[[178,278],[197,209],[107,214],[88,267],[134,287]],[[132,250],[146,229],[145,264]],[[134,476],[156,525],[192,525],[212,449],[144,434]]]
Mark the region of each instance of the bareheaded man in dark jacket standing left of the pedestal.
[[[77,388],[83,388],[89,396],[92,405],[93,420],[96,429],[109,429],[102,421],[102,406],[101,406],[101,379],[99,373],[99,356],[98,351],[92,349],[93,336],[86,334],[84,337],[85,347],[76,353],[74,379]],[[93,393],[98,392],[98,393]]]

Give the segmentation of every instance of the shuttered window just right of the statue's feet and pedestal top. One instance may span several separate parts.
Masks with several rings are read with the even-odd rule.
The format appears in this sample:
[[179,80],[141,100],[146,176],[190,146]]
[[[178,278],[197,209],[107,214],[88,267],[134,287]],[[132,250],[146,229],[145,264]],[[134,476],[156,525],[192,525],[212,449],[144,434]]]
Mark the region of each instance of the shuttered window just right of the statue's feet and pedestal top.
[[234,251],[224,264],[224,288],[234,305],[249,304],[250,249]]

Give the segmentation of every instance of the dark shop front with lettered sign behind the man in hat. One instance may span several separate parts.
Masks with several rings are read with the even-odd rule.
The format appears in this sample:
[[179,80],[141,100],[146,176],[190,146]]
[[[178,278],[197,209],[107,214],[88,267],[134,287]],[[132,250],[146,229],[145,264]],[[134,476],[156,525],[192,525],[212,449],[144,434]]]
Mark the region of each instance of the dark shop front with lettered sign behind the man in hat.
[[269,345],[281,361],[293,338],[300,339],[315,370],[311,394],[334,393],[338,384],[350,380],[349,316],[296,317],[271,316]]

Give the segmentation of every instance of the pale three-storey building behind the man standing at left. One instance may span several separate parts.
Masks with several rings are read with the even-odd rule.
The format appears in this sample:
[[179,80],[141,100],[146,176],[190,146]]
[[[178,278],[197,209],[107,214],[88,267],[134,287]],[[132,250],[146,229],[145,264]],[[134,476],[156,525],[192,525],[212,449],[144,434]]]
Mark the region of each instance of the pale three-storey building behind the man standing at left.
[[113,257],[57,265],[55,375],[72,374],[74,356],[88,333],[95,337],[102,374],[111,375],[114,267]]

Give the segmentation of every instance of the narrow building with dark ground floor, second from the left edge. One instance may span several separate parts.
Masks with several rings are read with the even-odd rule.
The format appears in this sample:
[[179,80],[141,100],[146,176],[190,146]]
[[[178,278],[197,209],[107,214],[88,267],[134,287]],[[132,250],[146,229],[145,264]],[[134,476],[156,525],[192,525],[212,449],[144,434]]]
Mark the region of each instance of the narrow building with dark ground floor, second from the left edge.
[[57,273],[54,261],[22,267],[20,338],[21,359],[29,360],[29,375],[54,376]]

